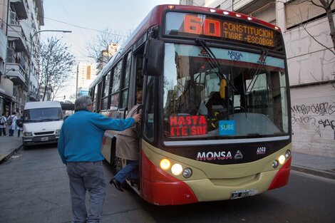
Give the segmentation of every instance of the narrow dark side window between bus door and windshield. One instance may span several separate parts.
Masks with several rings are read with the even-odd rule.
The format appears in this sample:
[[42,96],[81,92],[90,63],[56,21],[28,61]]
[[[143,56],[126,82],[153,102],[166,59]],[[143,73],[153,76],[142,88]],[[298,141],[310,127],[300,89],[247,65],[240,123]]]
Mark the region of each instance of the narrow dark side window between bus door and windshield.
[[155,78],[153,76],[147,77],[146,83],[146,93],[145,98],[145,122],[143,128],[143,136],[148,139],[150,142],[154,140],[155,133],[155,123],[154,123],[154,108],[155,108],[155,100],[154,100],[154,83]]

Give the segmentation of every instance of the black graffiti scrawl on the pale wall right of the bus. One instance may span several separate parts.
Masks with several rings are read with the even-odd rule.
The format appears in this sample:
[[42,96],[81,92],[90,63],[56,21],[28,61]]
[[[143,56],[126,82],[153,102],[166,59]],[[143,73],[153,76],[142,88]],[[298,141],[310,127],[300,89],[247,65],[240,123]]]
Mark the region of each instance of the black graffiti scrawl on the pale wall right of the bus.
[[311,127],[320,138],[322,128],[324,130],[335,130],[335,105],[332,103],[323,102],[311,105],[292,105],[291,111],[292,126],[306,125],[307,127]]

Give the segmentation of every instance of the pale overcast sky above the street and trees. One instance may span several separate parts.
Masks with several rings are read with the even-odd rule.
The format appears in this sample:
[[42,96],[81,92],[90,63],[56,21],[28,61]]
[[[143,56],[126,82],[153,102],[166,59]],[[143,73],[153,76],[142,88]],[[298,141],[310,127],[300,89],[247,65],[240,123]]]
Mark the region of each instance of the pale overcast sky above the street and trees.
[[[179,0],[45,0],[44,26],[41,30],[66,30],[72,33],[41,32],[41,40],[51,36],[61,39],[69,46],[76,62],[88,58],[87,45],[98,36],[99,31],[110,31],[126,35],[134,31],[153,7],[160,4],[179,4]],[[76,68],[73,68],[73,74]],[[68,81],[66,88],[58,92],[55,100],[70,99],[76,93],[76,80]]]

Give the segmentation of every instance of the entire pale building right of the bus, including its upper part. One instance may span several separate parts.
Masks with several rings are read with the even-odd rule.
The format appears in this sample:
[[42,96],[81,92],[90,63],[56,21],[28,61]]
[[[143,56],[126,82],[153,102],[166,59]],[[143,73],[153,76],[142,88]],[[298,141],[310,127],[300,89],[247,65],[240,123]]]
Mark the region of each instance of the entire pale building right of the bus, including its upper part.
[[[320,0],[314,3],[321,5]],[[181,0],[180,4],[237,11],[279,26],[291,86],[293,149],[335,157],[335,51],[324,9],[301,0]],[[335,1],[331,15],[335,20]]]

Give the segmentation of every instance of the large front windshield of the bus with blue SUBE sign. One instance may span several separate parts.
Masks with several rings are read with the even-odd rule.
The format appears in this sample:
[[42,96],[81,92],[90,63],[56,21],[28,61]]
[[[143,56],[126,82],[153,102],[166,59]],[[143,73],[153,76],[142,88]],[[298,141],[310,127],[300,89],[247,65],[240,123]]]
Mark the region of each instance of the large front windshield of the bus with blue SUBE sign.
[[165,43],[165,137],[174,140],[287,135],[284,59],[264,56],[261,51],[210,50],[217,58],[217,66],[213,66],[201,46]]

